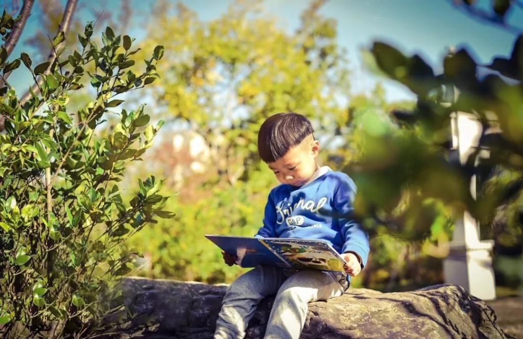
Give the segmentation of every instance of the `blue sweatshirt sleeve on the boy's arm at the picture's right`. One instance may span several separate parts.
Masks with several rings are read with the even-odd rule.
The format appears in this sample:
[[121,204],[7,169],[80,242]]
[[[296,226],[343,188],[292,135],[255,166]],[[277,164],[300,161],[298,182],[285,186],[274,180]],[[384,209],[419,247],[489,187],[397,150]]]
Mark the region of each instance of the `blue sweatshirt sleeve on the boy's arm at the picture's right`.
[[367,264],[369,256],[369,236],[361,225],[353,219],[356,185],[349,177],[340,180],[334,193],[334,208],[339,221],[340,233],[345,237],[342,253],[355,252],[361,259],[361,268]]

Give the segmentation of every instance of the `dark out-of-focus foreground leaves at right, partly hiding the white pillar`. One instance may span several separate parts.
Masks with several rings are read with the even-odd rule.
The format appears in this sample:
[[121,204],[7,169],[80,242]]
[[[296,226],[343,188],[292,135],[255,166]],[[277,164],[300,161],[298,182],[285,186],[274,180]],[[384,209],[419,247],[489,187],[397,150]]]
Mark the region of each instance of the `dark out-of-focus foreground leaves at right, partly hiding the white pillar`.
[[[472,3],[461,5],[479,13]],[[503,3],[508,7],[502,10]],[[493,2],[490,18],[507,26],[504,16],[510,4]],[[435,74],[419,55],[405,56],[383,42],[374,42],[371,53],[386,76],[417,95],[417,103],[411,110],[393,110],[393,120],[386,124],[365,118],[372,123],[361,129],[362,157],[347,171],[353,172],[359,187],[357,212],[372,216],[366,218],[367,225],[385,225],[411,240],[427,237],[431,225],[437,243],[434,230],[448,233],[448,220],[467,209],[480,220],[484,234],[494,231],[499,242],[519,241],[521,246],[523,36],[516,39],[509,57],[495,58],[490,65],[477,63],[466,48],[451,50],[441,74]],[[479,145],[465,164],[450,148],[453,112],[473,114],[482,124]],[[482,149],[488,150],[488,157],[480,156]],[[473,175],[478,178],[477,200],[469,188]],[[440,247],[427,248],[445,255],[444,240]]]

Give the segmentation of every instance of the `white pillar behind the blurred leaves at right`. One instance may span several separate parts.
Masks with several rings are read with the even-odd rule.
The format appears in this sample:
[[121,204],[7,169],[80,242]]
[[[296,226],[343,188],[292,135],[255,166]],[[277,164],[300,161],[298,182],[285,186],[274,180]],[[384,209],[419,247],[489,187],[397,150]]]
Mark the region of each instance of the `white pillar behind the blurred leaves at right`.
[[[482,126],[472,114],[458,112],[452,117],[452,146],[459,152],[460,163],[465,163],[479,143]],[[486,151],[488,152],[488,151]],[[471,179],[472,197],[476,197],[476,177]],[[492,269],[492,240],[480,240],[479,224],[465,211],[456,221],[450,242],[450,253],[443,263],[445,282],[465,288],[473,296],[492,300],[496,298],[494,270]]]

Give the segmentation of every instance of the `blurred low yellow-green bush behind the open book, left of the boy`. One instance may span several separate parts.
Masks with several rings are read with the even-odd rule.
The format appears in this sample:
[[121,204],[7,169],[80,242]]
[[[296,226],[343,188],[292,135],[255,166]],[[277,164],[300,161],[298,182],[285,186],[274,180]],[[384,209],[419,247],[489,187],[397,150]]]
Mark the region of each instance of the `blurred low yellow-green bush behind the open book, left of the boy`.
[[149,265],[140,274],[154,278],[196,280],[206,283],[231,282],[245,272],[224,264],[220,248],[204,234],[253,236],[261,226],[267,196],[276,179],[267,168],[254,171],[252,180],[235,186],[199,189],[197,200],[169,199],[176,217],[150,225],[130,239]]

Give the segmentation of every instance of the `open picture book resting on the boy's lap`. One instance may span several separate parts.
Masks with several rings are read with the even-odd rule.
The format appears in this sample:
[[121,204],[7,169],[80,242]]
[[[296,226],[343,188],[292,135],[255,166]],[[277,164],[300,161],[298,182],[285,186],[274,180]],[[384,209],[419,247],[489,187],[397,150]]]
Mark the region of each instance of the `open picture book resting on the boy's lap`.
[[241,267],[265,265],[344,272],[344,259],[325,240],[205,236],[226,253],[236,256],[236,264]]

